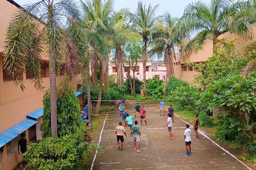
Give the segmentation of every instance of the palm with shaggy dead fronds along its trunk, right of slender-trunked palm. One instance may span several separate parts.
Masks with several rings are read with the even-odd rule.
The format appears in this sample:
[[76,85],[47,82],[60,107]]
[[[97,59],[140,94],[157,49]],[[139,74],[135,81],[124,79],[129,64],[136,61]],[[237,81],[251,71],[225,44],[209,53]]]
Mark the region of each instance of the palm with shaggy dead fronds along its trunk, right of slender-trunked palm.
[[168,78],[174,76],[173,59],[175,58],[174,46],[179,45],[179,39],[175,39],[174,32],[178,18],[172,18],[171,14],[166,12],[163,16],[164,30],[153,35],[154,47],[148,52],[150,56],[157,54],[159,58],[163,56],[166,61],[166,82]]

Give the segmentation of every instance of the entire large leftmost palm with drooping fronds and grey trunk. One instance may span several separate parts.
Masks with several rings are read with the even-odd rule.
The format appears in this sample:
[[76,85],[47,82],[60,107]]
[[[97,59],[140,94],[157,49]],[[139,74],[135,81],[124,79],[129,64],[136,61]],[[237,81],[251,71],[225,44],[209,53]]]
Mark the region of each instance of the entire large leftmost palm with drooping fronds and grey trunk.
[[41,0],[19,9],[6,33],[4,69],[22,90],[25,85],[20,73],[25,73],[26,68],[30,71],[34,87],[41,90],[40,58],[44,53],[49,56],[52,136],[57,136],[56,72],[61,62],[67,63],[66,71],[70,78],[79,71],[77,47],[63,25],[65,20],[68,25],[77,20],[78,11],[72,0]]

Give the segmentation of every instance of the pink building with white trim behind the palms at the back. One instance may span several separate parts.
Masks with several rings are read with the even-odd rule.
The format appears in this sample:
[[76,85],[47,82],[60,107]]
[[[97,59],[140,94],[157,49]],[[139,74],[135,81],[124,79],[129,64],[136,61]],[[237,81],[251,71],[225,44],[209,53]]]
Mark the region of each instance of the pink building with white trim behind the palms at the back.
[[[115,64],[109,64],[109,75],[115,74],[117,75],[117,70]],[[124,79],[127,79],[127,67],[129,65],[125,65],[125,67],[122,67],[123,74],[124,74]],[[131,76],[133,75],[133,71],[131,70],[130,72]],[[138,78],[140,81],[143,81],[143,63],[138,62],[137,63],[137,68],[135,72],[135,77]],[[158,80],[163,80],[164,82],[166,81],[166,65],[165,62],[163,61],[149,61],[146,64],[146,81],[149,78],[157,77]]]

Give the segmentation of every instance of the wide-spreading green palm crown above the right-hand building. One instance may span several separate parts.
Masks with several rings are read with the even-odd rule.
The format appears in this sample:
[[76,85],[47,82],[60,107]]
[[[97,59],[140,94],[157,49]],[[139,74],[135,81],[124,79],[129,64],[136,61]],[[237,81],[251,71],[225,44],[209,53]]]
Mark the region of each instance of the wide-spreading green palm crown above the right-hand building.
[[211,0],[209,4],[198,1],[188,4],[180,18],[177,31],[180,37],[196,34],[185,44],[184,57],[202,50],[212,42],[213,52],[218,37],[226,32],[245,39],[254,37],[252,23],[255,23],[255,8],[249,2],[233,3],[232,0]]

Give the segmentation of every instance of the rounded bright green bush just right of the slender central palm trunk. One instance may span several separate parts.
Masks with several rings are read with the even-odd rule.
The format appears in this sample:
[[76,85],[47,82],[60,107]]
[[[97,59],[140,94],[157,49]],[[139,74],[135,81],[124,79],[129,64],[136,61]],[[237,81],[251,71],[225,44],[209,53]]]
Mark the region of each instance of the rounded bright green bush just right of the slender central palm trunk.
[[146,82],[146,91],[147,94],[151,96],[152,100],[157,100],[162,97],[164,87],[165,86],[163,85],[163,81],[157,80],[156,77],[153,79],[148,79]]

